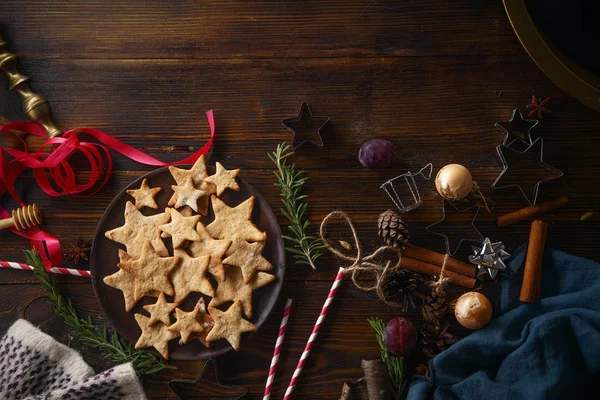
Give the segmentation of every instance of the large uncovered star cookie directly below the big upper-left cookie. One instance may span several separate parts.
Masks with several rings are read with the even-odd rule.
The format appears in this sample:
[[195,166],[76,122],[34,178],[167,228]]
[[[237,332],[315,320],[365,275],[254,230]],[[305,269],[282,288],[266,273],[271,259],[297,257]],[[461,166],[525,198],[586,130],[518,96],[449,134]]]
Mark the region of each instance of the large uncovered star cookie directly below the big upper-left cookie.
[[118,266],[135,277],[134,300],[137,302],[155,291],[172,296],[169,274],[178,263],[179,257],[160,257],[146,240],[139,259],[121,262]]

